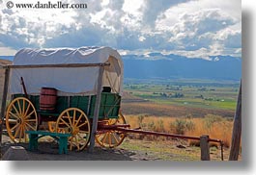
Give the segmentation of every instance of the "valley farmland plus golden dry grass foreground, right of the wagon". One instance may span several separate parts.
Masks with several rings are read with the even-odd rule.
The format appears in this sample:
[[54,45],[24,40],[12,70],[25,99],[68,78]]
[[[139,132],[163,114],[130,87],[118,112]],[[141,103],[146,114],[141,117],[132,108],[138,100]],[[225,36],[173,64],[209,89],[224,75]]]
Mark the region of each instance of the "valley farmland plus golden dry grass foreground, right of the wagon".
[[[122,112],[131,128],[193,137],[207,134],[222,139],[228,149],[239,86],[240,82],[231,81],[127,80]],[[185,144],[198,145],[191,140]]]

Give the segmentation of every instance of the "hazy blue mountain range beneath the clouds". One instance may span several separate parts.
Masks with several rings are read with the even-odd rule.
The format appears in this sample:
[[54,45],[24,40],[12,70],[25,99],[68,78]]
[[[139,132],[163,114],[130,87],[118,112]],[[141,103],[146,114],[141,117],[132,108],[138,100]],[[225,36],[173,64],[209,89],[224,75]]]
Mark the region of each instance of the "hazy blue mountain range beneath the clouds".
[[[125,55],[124,77],[133,79],[213,79],[240,80],[242,78],[242,58],[231,56],[210,57],[212,61],[188,59],[178,55]],[[14,56],[0,56],[13,61]]]

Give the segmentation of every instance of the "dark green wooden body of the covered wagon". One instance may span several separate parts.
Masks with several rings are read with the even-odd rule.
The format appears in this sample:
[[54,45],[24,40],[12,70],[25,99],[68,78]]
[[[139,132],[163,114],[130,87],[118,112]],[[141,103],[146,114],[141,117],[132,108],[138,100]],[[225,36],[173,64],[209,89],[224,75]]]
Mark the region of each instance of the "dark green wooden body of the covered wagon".
[[[13,98],[25,97],[24,94],[14,94]],[[40,96],[28,95],[28,99],[33,103],[36,111],[42,116],[59,116],[61,112],[68,108],[78,108],[93,119],[96,103],[96,95],[91,96],[58,96],[55,111],[40,110]],[[120,110],[121,96],[117,93],[102,92],[100,101],[99,119],[117,118]],[[22,105],[22,104],[21,104]],[[43,118],[42,118],[43,119]],[[54,119],[52,119],[54,120]]]

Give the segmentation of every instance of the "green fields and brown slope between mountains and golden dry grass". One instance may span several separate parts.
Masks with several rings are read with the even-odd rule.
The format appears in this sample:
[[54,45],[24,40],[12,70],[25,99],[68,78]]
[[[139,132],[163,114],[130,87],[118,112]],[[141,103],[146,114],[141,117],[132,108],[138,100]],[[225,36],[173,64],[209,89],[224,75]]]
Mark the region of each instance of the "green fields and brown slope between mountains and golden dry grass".
[[157,116],[233,117],[240,82],[127,80],[123,112]]

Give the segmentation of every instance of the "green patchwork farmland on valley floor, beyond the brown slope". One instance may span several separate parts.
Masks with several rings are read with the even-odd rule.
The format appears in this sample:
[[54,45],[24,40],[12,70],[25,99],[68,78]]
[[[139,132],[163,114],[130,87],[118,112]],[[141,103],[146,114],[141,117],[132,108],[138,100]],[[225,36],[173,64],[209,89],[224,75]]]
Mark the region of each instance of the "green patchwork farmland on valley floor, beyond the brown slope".
[[[194,108],[205,108],[213,110],[235,110],[238,96],[238,84],[231,82],[211,83],[206,81],[204,86],[203,80],[191,82],[164,82],[154,84],[129,83],[125,85],[125,90],[131,92],[134,96],[147,99],[155,103],[179,105]],[[199,86],[200,85],[200,86]],[[163,96],[162,94],[167,96]],[[176,93],[184,94],[184,97],[175,98]],[[203,96],[199,98],[199,96]]]

